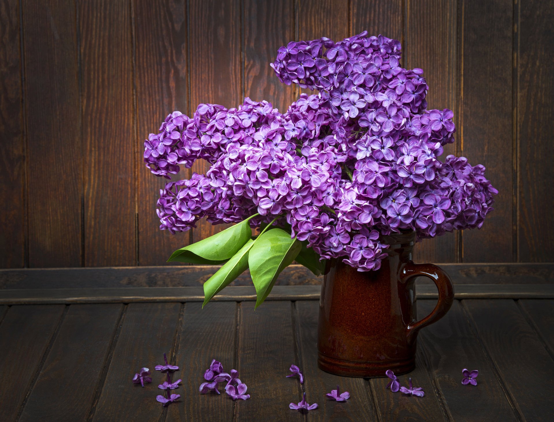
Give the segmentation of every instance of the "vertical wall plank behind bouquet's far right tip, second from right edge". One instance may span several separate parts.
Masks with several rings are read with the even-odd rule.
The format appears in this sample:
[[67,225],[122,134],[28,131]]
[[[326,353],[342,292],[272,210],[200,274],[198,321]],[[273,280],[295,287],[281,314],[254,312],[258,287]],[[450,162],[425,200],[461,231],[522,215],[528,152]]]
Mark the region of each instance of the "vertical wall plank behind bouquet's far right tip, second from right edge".
[[[502,0],[463,2],[462,80],[458,142],[473,165],[500,192],[481,230],[462,234],[464,262],[509,262],[513,256],[512,216],[512,30],[513,4]],[[545,21],[546,22],[546,21]],[[486,40],[486,42],[484,42]],[[533,40],[532,43],[535,43]],[[533,125],[538,122],[534,121]]]

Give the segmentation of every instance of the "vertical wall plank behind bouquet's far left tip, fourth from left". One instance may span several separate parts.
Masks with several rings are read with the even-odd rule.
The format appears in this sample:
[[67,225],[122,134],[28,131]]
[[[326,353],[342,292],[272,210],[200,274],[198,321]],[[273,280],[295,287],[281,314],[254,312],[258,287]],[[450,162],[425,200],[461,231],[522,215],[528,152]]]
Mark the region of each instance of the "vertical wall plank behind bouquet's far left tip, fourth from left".
[[[172,111],[188,110],[187,5],[185,0],[134,0],[137,90],[137,136],[142,140]],[[140,154],[139,154],[140,155]],[[139,265],[165,264],[171,253],[188,244],[189,233],[160,230],[156,202],[166,179],[139,163]],[[182,168],[173,179],[187,178]]]

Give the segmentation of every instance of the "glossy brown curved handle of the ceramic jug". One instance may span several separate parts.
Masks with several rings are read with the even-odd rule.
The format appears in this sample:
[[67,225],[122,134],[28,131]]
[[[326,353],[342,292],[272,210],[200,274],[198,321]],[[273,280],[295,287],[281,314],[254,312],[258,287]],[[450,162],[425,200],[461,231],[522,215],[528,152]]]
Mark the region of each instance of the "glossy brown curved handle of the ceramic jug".
[[452,285],[452,280],[450,280],[448,274],[437,265],[414,264],[412,261],[409,261],[402,266],[400,271],[402,282],[407,282],[412,277],[417,276],[424,276],[433,280],[439,290],[439,300],[437,302],[437,306],[433,309],[433,312],[422,320],[408,325],[406,328],[408,340],[410,340],[411,337],[413,337],[413,335],[423,327],[431,325],[445,316],[454,302],[454,286]]

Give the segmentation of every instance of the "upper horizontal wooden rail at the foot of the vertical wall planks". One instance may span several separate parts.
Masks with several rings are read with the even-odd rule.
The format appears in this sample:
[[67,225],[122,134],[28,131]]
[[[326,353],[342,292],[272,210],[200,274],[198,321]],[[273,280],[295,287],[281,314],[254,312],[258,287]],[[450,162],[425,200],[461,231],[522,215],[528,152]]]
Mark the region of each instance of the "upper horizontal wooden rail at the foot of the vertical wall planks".
[[[463,263],[437,264],[455,284],[550,284],[554,263]],[[107,287],[193,287],[201,286],[219,269],[217,265],[166,265],[133,267],[25,268],[0,270],[0,289],[68,289]],[[316,277],[301,265],[290,265],[276,285],[319,285]],[[422,279],[424,280],[424,279]],[[426,280],[425,282],[428,282]],[[235,286],[252,284],[245,271]]]

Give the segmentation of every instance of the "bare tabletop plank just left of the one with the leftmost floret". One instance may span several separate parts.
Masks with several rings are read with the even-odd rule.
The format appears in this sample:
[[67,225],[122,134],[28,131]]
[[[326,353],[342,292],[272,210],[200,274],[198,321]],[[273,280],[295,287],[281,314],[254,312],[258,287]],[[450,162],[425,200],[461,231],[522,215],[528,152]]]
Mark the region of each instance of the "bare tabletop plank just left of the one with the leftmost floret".
[[20,421],[86,420],[122,308],[69,307]]

